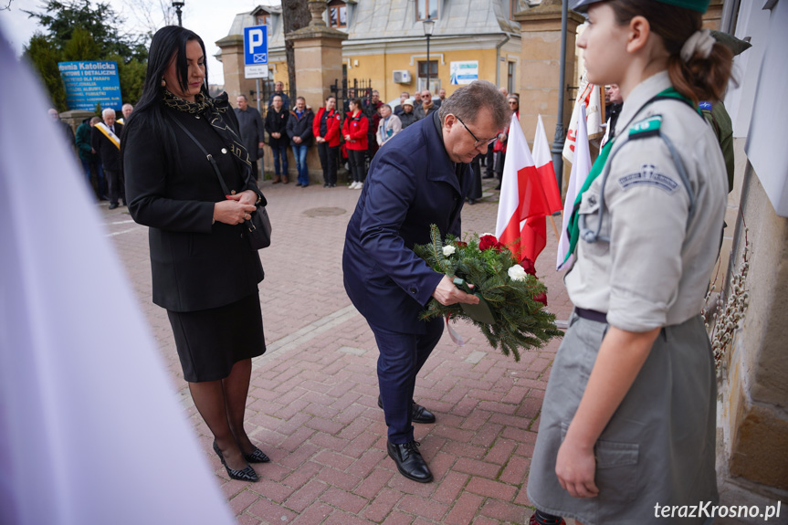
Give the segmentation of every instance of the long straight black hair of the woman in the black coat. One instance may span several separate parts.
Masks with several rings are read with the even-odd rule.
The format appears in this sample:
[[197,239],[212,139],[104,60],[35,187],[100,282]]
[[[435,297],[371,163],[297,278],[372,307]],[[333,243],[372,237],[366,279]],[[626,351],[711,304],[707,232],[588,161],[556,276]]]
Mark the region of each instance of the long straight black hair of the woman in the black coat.
[[[177,159],[177,142],[170,123],[165,121],[162,94],[164,88],[162,79],[164,72],[170,67],[170,62],[175,60],[178,71],[178,83],[182,91],[188,91],[189,85],[189,65],[186,61],[186,44],[190,40],[196,40],[203,48],[205,57],[205,79],[200,88],[205,96],[208,96],[208,65],[205,55],[205,44],[203,39],[197,36],[194,31],[184,29],[180,26],[164,26],[153,35],[151,49],[148,51],[148,69],[145,74],[145,83],[142,85],[142,96],[137,102],[137,107],[131,113],[126,125],[123,126],[121,136],[121,161],[125,152],[125,137],[130,130],[137,126],[145,126],[152,133],[161,137],[166,151],[170,152],[168,158]],[[122,162],[121,162],[122,165]]]

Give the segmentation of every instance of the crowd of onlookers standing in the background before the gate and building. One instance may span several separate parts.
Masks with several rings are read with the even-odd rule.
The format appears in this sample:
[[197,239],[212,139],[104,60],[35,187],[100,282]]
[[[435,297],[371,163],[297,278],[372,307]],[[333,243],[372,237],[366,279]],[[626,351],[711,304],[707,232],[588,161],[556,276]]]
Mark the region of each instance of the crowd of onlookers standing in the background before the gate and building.
[[[339,108],[334,96],[313,111],[304,97],[295,97],[291,103],[282,82],[276,82],[268,97],[268,110],[263,116],[245,94],[236,96],[233,108],[238,121],[238,135],[249,155],[252,176],[260,180],[258,161],[262,160],[264,146],[268,144],[273,156],[273,184],[289,184],[289,166],[295,163],[296,186],[310,186],[308,152],[312,144],[317,148],[322,170],[323,187],[337,185],[337,173],[341,166],[348,173],[348,188],[361,189],[369,165],[377,151],[395,135],[415,122],[425,119],[440,109],[447,100],[446,89],[438,89],[433,96],[428,89],[416,91],[413,96],[403,91],[399,104],[394,108],[380,100],[376,89],[367,91],[367,96],[357,97],[355,89],[348,90],[343,100],[345,111]],[[123,173],[119,168],[121,131],[131,116],[134,107],[125,103],[121,107],[122,117],[111,109],[101,111],[101,117],[89,117],[77,128],[76,136],[68,123],[60,121],[58,111],[50,109],[50,116],[64,129],[67,141],[76,149],[86,180],[100,201],[109,201],[110,209],[126,205]],[[505,131],[501,131],[501,142],[505,142]],[[496,152],[499,146],[496,145]],[[503,149],[505,152],[505,146]],[[492,154],[490,150],[490,155]],[[292,161],[289,161],[289,155]],[[482,165],[488,170],[496,166],[500,175],[503,158],[481,156]],[[482,178],[477,163],[475,176]],[[475,186],[480,187],[479,184]],[[478,196],[469,199],[474,204]]]

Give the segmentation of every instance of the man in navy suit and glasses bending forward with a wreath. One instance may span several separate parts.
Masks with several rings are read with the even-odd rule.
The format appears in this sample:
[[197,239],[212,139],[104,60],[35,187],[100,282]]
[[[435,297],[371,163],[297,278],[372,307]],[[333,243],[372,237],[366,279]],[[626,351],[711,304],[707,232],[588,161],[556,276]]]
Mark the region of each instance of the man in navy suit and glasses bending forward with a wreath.
[[426,483],[432,473],[418,452],[415,423],[434,423],[413,401],[415,376],[435,348],[443,321],[419,320],[426,303],[478,303],[417,257],[430,225],[459,236],[460,211],[471,184],[468,163],[486,153],[509,120],[490,82],[457,89],[426,119],[397,134],[375,155],[348,225],[342,269],[345,289],[366,318],[380,351],[378,404],[388,425],[388,453],[405,478]]

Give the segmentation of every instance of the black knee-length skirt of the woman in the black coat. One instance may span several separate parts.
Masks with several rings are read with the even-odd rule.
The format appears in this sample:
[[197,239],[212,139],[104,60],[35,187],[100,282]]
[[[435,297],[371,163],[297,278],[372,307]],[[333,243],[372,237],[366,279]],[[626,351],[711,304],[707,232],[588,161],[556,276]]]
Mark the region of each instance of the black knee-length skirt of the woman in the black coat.
[[266,352],[257,293],[219,308],[167,310],[189,383],[226,378],[236,362]]

